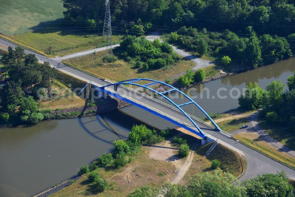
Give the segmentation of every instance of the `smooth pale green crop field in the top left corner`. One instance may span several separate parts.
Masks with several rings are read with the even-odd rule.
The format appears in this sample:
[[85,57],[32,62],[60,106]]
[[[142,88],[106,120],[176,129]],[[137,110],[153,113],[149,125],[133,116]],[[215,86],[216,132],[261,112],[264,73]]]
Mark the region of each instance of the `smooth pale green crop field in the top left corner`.
[[10,36],[31,31],[41,22],[63,18],[65,11],[62,0],[1,0],[0,4],[0,33]]

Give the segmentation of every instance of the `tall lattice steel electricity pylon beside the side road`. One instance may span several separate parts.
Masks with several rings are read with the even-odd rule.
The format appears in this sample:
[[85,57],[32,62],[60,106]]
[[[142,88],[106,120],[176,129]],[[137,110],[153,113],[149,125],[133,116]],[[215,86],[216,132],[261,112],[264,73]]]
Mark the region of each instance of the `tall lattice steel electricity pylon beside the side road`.
[[106,36],[106,57],[113,58],[111,17],[110,1],[106,0],[106,15],[104,17],[104,31],[102,34],[102,39],[104,39],[104,37]]

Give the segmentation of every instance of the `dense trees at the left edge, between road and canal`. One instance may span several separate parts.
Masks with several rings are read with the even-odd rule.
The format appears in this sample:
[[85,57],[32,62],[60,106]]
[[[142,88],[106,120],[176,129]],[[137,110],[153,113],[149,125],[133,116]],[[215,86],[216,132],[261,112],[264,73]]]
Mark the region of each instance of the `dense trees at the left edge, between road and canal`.
[[11,79],[0,87],[0,122],[37,123],[44,118],[38,112],[37,93],[45,94],[57,71],[48,62],[39,64],[35,55],[25,54],[22,47],[9,47],[8,51],[0,59]]

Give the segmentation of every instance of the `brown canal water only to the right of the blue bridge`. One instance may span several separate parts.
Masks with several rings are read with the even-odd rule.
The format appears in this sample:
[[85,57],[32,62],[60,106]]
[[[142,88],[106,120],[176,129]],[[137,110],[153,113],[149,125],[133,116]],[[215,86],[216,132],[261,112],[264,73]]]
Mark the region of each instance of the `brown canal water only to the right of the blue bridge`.
[[[253,84],[257,82],[260,87],[265,89],[266,85],[274,80],[281,80],[282,83],[286,83],[287,77],[293,75],[294,70],[295,58],[290,58],[247,72],[195,85],[193,87],[195,89],[189,88],[184,93],[193,98],[207,113],[226,112],[239,106],[238,93],[242,94],[243,88],[249,82]],[[285,89],[287,90],[287,85]],[[187,99],[182,99],[176,93],[170,94],[169,97],[173,98],[176,104],[188,102]],[[183,106],[183,110],[189,114],[193,114],[192,109],[192,104]],[[203,118],[204,114],[195,107],[194,116]]]

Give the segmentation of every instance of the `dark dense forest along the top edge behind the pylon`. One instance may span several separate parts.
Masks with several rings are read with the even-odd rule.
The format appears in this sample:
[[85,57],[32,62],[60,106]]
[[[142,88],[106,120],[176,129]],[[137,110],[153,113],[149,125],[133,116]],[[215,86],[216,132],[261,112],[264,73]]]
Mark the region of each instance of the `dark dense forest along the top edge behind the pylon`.
[[[104,3],[104,0],[65,0],[65,20],[76,27],[92,28],[104,20]],[[140,19],[166,29],[193,26],[244,32],[246,27],[253,26],[259,34],[295,33],[293,0],[114,0],[110,8],[113,26],[122,28]]]

